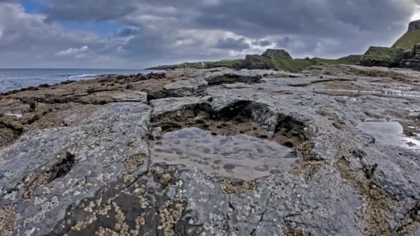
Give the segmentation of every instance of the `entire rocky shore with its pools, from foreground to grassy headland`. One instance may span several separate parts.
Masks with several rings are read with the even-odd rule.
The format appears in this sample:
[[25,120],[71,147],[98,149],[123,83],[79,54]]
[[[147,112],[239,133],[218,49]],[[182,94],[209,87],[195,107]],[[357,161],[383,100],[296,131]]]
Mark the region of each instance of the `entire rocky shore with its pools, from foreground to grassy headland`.
[[419,91],[314,66],[2,95],[0,235],[418,235]]

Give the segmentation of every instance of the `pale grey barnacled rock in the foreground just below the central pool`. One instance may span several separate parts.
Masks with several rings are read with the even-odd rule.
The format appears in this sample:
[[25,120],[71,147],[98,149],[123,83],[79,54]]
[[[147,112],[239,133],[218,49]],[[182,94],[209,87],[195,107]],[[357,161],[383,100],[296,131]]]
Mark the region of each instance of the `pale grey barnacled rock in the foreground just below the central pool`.
[[271,177],[254,190],[230,195],[220,193],[231,184],[214,184],[200,173],[183,173],[181,179],[193,222],[185,235],[195,235],[198,226],[209,235],[287,235],[303,225],[313,235],[363,235],[356,222],[361,197],[334,168],[320,168],[309,181]]

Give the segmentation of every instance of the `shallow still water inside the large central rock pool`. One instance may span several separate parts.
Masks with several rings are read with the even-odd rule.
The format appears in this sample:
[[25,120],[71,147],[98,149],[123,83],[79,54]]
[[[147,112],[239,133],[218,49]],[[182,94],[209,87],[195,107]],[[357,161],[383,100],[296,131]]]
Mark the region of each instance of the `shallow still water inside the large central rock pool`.
[[217,135],[190,127],[166,132],[152,161],[195,166],[207,175],[252,180],[285,173],[296,165],[292,148],[246,134]]

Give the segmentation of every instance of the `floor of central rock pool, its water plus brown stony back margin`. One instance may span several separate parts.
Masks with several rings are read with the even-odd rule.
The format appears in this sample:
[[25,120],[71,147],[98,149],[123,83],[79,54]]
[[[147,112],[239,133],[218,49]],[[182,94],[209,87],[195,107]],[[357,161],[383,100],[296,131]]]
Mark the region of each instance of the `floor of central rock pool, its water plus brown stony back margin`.
[[155,163],[182,164],[210,176],[254,180],[287,173],[299,161],[294,146],[304,137],[293,130],[267,132],[249,121],[190,119],[165,126],[151,148]]

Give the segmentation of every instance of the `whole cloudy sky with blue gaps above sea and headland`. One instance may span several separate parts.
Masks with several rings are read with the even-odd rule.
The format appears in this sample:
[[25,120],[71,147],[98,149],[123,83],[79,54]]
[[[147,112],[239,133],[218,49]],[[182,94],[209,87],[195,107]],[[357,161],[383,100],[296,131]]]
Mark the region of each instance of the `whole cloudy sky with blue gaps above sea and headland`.
[[0,68],[338,58],[391,46],[417,19],[420,0],[0,0]]

